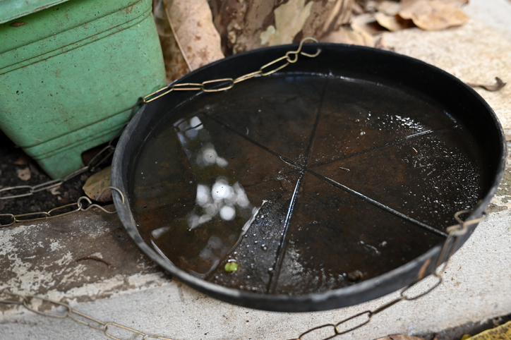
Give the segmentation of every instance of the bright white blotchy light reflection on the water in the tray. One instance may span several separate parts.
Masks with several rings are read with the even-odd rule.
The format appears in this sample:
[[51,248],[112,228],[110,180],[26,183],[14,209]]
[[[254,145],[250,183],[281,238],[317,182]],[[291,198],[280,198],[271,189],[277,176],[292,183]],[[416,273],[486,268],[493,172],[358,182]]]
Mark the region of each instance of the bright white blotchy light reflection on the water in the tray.
[[[198,178],[195,205],[181,224],[153,230],[152,244],[172,262],[188,267],[191,274],[205,277],[239,245],[260,207],[251,205],[234,175],[222,171],[229,162],[217,153],[210,142],[210,133],[198,116],[179,119],[174,128]],[[215,174],[222,175],[215,177]],[[191,245],[180,245],[179,233],[187,234],[188,238],[198,237]],[[169,242],[173,245],[170,252]],[[187,248],[184,251],[183,246]]]

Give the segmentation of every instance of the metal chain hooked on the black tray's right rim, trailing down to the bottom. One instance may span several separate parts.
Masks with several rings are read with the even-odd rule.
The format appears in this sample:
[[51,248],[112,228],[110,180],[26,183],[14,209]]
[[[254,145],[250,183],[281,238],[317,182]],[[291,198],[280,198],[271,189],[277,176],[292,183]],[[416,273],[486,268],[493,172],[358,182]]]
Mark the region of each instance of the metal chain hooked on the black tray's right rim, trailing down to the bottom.
[[[460,216],[462,214],[468,214],[471,212],[470,210],[461,210],[455,214],[455,219],[459,222],[458,224],[455,224],[454,226],[449,226],[447,228],[447,238],[445,239],[445,242],[443,243],[442,250],[440,251],[440,255],[438,255],[438,260],[435,264],[435,269],[432,274],[428,275],[427,277],[434,277],[435,282],[426,290],[423,290],[421,293],[412,294],[407,292],[412,289],[412,287],[416,287],[419,282],[423,281],[423,279],[426,279],[424,277],[424,273],[426,272],[426,268],[431,263],[431,260],[426,260],[423,267],[421,267],[417,279],[409,284],[408,286],[404,287],[404,289],[401,290],[399,293],[399,297],[395,298],[394,300],[391,300],[388,303],[385,303],[384,305],[381,305],[380,307],[374,309],[374,310],[366,310],[364,312],[359,312],[356,315],[352,315],[351,317],[347,317],[344,320],[341,320],[337,322],[336,324],[323,324],[318,327],[313,327],[311,329],[308,329],[306,332],[303,332],[300,334],[298,338],[290,339],[290,340],[304,340],[303,338],[307,336],[307,339],[313,339],[314,334],[318,334],[315,339],[318,340],[327,340],[327,339],[333,339],[337,336],[340,336],[342,334],[347,334],[349,332],[354,331],[355,329],[359,329],[360,327],[363,327],[364,325],[371,322],[373,319],[373,316],[378,314],[379,312],[383,312],[383,310],[386,310],[387,308],[390,308],[392,305],[395,305],[396,303],[399,303],[403,300],[411,301],[411,300],[417,300],[419,298],[422,298],[423,296],[428,295],[428,293],[431,293],[431,291],[435,290],[440,284],[443,282],[443,273],[445,272],[445,269],[449,263],[450,257],[455,252],[457,241],[459,236],[464,235],[467,233],[468,227],[472,224],[478,224],[480,221],[484,219],[486,214],[483,214],[483,217],[479,219],[471,219],[470,221],[462,221]],[[445,257],[445,262],[443,262]],[[442,265],[443,266],[440,267]],[[324,335],[325,329],[331,329],[331,334],[329,336]]]

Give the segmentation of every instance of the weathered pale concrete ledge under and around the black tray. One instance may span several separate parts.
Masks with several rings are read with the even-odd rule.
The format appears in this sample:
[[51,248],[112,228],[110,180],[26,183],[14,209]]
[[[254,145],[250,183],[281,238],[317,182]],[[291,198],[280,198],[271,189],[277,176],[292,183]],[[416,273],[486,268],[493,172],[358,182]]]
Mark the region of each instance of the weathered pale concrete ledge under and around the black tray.
[[[511,8],[509,2],[501,5]],[[511,80],[511,40],[478,20],[440,32],[406,30],[385,39],[398,53],[433,63],[467,82],[492,83],[495,76]],[[478,92],[503,127],[511,128],[511,86],[499,92]],[[508,168],[487,219],[452,258],[445,284],[424,298],[375,315],[370,324],[339,339],[426,334],[509,314],[510,188]],[[82,257],[102,258],[109,265],[90,258],[79,260]],[[0,270],[0,289],[64,299],[99,320],[172,339],[289,339],[310,327],[376,308],[397,294],[329,312],[289,314],[239,308],[172,280],[140,253],[115,216],[94,212],[0,229]],[[0,305],[0,339],[106,336],[72,320]]]

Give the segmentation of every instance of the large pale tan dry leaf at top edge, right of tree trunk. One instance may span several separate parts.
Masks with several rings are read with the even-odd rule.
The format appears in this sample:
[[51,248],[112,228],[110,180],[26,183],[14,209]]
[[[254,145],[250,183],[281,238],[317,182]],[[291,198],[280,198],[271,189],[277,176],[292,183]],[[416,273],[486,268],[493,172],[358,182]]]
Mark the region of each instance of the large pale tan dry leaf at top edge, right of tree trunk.
[[399,16],[413,20],[423,30],[443,30],[469,20],[457,6],[442,0],[402,0]]

